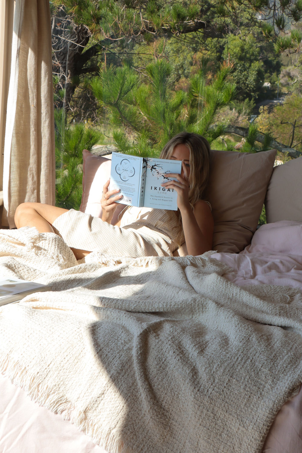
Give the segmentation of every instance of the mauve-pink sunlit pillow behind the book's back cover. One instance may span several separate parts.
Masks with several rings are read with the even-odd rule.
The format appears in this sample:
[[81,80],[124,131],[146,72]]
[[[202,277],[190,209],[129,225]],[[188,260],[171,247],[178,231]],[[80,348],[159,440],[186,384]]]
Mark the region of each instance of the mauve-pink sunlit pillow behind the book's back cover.
[[[110,178],[111,159],[95,156],[83,149],[83,193],[80,211],[93,217],[102,217],[101,197],[103,185]],[[118,221],[120,212],[126,205],[120,203],[116,208],[111,223]]]

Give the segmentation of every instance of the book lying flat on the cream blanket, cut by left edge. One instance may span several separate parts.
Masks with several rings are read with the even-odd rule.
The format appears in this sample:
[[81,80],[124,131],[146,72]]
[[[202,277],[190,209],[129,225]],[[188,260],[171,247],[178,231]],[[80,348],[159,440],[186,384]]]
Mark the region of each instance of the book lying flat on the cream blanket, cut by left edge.
[[27,280],[9,279],[0,281],[0,306],[19,302],[25,296],[38,291],[48,291],[49,286]]

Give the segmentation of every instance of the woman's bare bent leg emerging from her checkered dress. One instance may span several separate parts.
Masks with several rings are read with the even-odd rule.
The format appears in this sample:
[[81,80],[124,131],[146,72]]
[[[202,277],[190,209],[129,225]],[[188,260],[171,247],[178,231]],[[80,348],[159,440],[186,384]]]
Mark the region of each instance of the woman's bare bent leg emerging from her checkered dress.
[[[14,214],[14,222],[17,228],[22,226],[35,226],[39,233],[54,233],[53,222],[68,209],[62,207],[51,206],[43,203],[22,203]],[[77,260],[81,260],[84,256],[91,253],[87,250],[74,249],[71,250]]]

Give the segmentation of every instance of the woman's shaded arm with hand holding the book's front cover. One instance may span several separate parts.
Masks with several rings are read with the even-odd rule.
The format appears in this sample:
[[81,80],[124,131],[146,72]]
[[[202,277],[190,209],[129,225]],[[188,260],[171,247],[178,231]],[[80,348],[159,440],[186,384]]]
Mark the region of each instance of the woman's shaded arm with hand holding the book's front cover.
[[177,181],[163,183],[177,192],[177,206],[182,214],[182,227],[189,255],[202,255],[211,250],[213,240],[214,221],[209,205],[199,200],[194,210],[189,203],[188,169],[182,162],[183,175],[171,173]]

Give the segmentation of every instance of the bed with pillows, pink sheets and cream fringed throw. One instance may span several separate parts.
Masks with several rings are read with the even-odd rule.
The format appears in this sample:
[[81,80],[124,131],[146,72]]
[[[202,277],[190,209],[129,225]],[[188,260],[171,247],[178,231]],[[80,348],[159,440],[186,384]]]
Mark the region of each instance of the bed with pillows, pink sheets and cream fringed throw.
[[[51,287],[0,310],[2,452],[301,451],[302,158],[274,158],[211,153],[199,257],[0,231],[3,277]],[[84,212],[108,165],[84,153]]]

